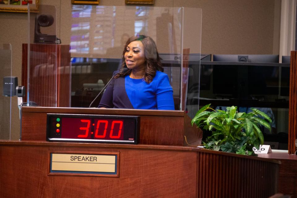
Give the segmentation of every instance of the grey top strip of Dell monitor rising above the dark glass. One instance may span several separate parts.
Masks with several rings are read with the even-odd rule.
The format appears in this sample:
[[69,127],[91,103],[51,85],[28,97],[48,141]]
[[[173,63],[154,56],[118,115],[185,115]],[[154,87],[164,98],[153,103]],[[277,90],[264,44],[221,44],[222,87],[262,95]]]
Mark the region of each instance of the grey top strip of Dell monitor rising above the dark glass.
[[[241,57],[247,58],[247,61],[239,61]],[[279,55],[274,54],[213,54],[213,61],[222,62],[269,62],[278,63]]]

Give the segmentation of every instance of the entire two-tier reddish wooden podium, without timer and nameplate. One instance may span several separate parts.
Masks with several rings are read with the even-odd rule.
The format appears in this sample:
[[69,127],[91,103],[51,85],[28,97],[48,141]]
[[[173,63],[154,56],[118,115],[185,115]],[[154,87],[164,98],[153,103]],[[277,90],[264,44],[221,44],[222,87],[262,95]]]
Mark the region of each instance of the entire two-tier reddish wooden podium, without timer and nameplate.
[[[45,141],[46,115],[140,116],[140,144]],[[0,141],[0,197],[269,197],[279,161],[183,145],[183,111],[22,108],[22,140]],[[50,174],[50,153],[117,153],[118,176]]]

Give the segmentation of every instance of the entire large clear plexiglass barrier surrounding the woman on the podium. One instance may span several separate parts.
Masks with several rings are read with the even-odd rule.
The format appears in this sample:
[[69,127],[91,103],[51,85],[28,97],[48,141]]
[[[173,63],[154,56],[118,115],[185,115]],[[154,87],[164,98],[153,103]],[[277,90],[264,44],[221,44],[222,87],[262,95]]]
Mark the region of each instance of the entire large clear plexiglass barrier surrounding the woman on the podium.
[[[29,14],[31,62],[28,98],[35,105],[89,107],[113,72],[121,68],[128,38],[147,35],[155,41],[164,73],[169,77],[174,109],[195,115],[199,103],[193,103],[192,97],[199,98],[201,9],[72,5],[71,13],[61,17],[69,25],[61,29],[64,41],[55,40],[56,54],[48,51],[54,43],[41,44],[36,40],[34,43],[36,33],[32,27],[35,26],[36,31],[36,25],[33,25],[36,22],[33,18],[41,13],[44,11]],[[32,50],[32,45],[42,47]],[[35,60],[33,64],[34,57],[42,60]],[[40,80],[46,83],[39,84]],[[51,95],[42,93],[38,86],[44,89],[49,86],[56,92],[53,91],[55,94]],[[101,96],[93,102],[93,107],[97,107]],[[49,97],[53,101],[56,97],[55,102],[45,100]]]

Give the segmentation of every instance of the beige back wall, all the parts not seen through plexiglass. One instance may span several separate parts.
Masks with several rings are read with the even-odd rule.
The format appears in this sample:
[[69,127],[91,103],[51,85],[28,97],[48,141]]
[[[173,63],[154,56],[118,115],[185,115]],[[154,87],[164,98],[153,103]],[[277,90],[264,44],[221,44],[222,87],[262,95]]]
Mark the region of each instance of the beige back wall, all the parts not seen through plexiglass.
[[[57,37],[70,43],[71,0],[40,0],[57,8]],[[125,6],[125,0],[100,5]],[[204,54],[278,54],[280,0],[156,0],[155,6],[202,8],[201,52]],[[21,47],[27,43],[27,14],[0,13],[0,43],[12,45],[12,73],[21,82]],[[1,68],[0,68],[1,72]],[[19,137],[16,97],[12,100],[13,139]]]

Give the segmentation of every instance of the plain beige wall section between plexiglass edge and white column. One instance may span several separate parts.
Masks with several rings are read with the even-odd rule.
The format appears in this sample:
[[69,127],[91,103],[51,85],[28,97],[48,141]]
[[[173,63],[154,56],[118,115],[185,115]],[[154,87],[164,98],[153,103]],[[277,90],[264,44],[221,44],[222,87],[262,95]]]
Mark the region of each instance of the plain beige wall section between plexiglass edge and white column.
[[[278,54],[280,1],[199,1],[202,53]],[[279,7],[275,9],[274,5]],[[276,14],[276,16],[275,16]],[[278,20],[279,21],[279,20]],[[277,32],[274,32],[276,30]]]

